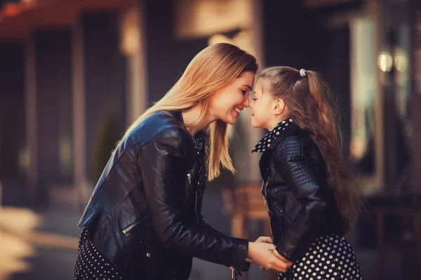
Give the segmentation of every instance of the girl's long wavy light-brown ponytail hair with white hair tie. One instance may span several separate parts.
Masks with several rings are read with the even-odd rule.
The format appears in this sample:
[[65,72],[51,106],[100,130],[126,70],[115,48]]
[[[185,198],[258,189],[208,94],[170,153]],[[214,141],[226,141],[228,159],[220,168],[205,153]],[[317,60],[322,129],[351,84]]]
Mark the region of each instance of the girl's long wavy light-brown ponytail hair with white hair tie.
[[262,69],[258,75],[274,98],[281,98],[299,127],[307,130],[326,164],[326,175],[342,216],[343,228],[349,232],[361,209],[347,162],[342,154],[339,111],[328,85],[314,71],[300,71],[288,66]]

